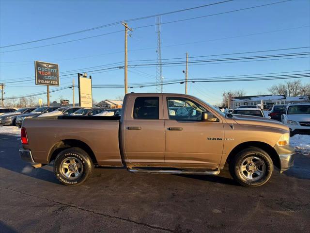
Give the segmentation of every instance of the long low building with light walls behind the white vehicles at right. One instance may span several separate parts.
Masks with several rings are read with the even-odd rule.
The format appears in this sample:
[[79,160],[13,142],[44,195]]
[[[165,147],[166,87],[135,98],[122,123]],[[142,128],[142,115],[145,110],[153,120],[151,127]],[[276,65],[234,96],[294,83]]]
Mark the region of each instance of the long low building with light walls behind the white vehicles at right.
[[257,105],[261,104],[287,104],[291,102],[307,102],[310,101],[309,96],[296,96],[296,97],[285,97],[285,96],[273,96],[273,95],[262,95],[262,96],[239,96],[232,97],[231,105],[233,109],[238,108],[242,105]]

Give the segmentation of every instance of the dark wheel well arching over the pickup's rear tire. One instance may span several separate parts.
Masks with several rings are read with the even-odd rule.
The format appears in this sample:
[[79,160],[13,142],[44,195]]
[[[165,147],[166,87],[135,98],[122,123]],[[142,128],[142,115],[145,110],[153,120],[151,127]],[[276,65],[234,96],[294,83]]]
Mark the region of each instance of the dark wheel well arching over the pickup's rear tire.
[[62,141],[59,141],[58,143],[56,143],[52,150],[50,151],[49,153],[49,156],[48,156],[48,163],[50,163],[51,161],[53,161],[56,156],[62,151],[62,150],[65,150],[65,149],[68,149],[68,148],[71,148],[71,147],[78,147],[82,150],[85,150],[86,153],[88,153],[88,155],[91,157],[92,161],[93,161],[93,164],[94,165],[97,165],[97,160],[96,160],[96,157],[93,153],[93,150],[85,143],[85,142],[82,142],[80,140],[76,140],[76,139],[66,139],[66,140],[62,140]]

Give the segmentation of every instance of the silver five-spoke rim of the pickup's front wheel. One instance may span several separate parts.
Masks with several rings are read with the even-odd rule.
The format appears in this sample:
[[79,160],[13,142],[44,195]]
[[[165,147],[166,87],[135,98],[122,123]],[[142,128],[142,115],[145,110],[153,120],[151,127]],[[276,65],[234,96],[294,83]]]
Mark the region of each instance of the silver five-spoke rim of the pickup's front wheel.
[[264,161],[258,157],[250,156],[244,159],[240,165],[240,173],[248,181],[257,181],[263,177],[266,171]]

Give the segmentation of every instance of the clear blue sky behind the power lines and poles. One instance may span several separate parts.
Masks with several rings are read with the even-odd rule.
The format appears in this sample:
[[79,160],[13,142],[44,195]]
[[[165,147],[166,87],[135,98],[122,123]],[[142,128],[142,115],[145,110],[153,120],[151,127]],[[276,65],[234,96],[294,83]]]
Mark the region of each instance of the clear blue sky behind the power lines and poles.
[[[217,0],[220,1],[220,0]],[[64,33],[75,32],[87,28],[113,23],[135,17],[149,16],[159,13],[195,7],[216,0],[181,0],[181,1],[99,1],[99,0],[67,0],[67,1],[0,1],[0,45],[42,39]],[[235,0],[196,10],[166,15],[162,22],[199,17],[220,12],[226,12],[276,1],[270,0]],[[131,28],[155,23],[155,18],[129,22]],[[310,46],[310,1],[292,0],[259,8],[205,17],[183,22],[164,24],[161,27],[162,58],[225,54],[259,50],[275,50],[284,48]],[[290,28],[303,27],[286,30]],[[124,61],[124,32],[105,36],[64,43],[60,45],[5,52],[35,46],[59,43],[83,37],[123,30],[121,24],[78,33],[52,40],[8,47],[1,49],[0,83],[11,79],[34,76],[34,60],[55,62],[59,64],[60,72],[76,70],[85,67],[95,67]],[[285,30],[284,30],[285,29]],[[272,33],[263,33],[277,31]],[[260,34],[258,34],[260,33]],[[156,59],[155,26],[134,30],[128,37],[128,60]],[[248,35],[249,36],[241,36]],[[235,38],[227,38],[233,37]],[[237,37],[239,36],[239,37]],[[223,39],[226,38],[226,39]],[[208,41],[207,41],[208,40]],[[205,41],[205,42],[200,42]],[[199,43],[192,43],[199,42]],[[184,44],[174,46],[178,44]],[[145,50],[139,50],[145,49]],[[253,56],[264,54],[279,54],[309,51],[309,48],[288,51],[241,54],[237,56]],[[236,56],[236,55],[234,55]],[[232,55],[221,56],[232,57]],[[217,57],[211,57],[217,58]],[[210,59],[210,58],[207,58]],[[189,59],[190,61],[191,59]],[[163,67],[164,80],[183,79],[185,75],[181,67]],[[204,78],[228,75],[248,75],[272,72],[309,70],[310,59],[282,59],[274,61],[240,62],[225,64],[208,64],[188,67],[188,78]],[[83,70],[80,70],[83,71]],[[74,73],[76,71],[68,72]],[[143,75],[143,73],[149,75]],[[92,74],[92,73],[89,73]],[[155,81],[155,67],[129,68],[128,82],[143,83]],[[75,75],[77,76],[77,75]],[[109,72],[94,73],[93,84],[124,83],[124,69]],[[61,78],[61,86],[72,83],[73,76]],[[31,78],[27,78],[31,79]],[[3,81],[4,80],[4,81]],[[22,80],[22,79],[21,79]],[[197,96],[213,104],[222,100],[224,91],[244,89],[247,95],[267,94],[267,88],[285,80],[225,82],[225,83],[190,83],[188,94]],[[303,78],[303,83],[309,83],[309,78]],[[38,86],[32,81],[8,83],[5,87],[5,97],[30,94],[45,91],[45,86]],[[77,83],[77,78],[76,78]],[[51,90],[55,87],[51,87]],[[164,92],[184,93],[184,84],[165,85]],[[129,92],[155,92],[155,87],[129,89]],[[93,89],[93,99],[100,101],[114,99],[124,95],[124,89]],[[51,93],[51,100],[62,96],[72,100],[72,90]],[[46,101],[46,95],[39,96]],[[78,100],[78,91],[76,91]]]

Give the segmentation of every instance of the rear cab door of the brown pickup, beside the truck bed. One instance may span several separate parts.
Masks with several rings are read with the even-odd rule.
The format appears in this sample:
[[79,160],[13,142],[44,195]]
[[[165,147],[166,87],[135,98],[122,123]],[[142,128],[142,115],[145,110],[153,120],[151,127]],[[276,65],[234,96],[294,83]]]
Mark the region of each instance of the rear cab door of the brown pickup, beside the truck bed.
[[164,163],[165,127],[161,96],[131,95],[126,100],[123,146],[130,163]]

